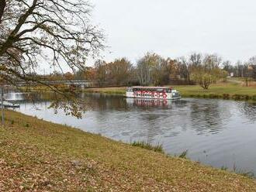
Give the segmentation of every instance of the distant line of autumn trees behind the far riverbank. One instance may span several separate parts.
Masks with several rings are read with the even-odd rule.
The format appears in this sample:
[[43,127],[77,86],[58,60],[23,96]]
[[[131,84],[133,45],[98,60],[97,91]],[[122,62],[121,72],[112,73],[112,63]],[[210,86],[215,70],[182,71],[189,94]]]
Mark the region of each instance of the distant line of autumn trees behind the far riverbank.
[[146,53],[134,64],[126,58],[110,63],[97,60],[94,67],[85,67],[74,74],[50,74],[47,79],[87,80],[98,86],[200,84],[207,89],[209,84],[228,76],[256,79],[256,57],[231,64],[216,54],[192,53],[188,57],[171,59]]

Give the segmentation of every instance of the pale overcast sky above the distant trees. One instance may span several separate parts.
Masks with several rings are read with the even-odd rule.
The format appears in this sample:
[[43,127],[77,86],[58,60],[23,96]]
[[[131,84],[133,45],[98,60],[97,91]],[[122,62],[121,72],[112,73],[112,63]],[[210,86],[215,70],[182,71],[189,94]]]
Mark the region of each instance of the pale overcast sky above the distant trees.
[[256,55],[255,0],[92,0],[105,30],[105,60],[135,62],[147,51],[164,57],[218,53],[232,62]]

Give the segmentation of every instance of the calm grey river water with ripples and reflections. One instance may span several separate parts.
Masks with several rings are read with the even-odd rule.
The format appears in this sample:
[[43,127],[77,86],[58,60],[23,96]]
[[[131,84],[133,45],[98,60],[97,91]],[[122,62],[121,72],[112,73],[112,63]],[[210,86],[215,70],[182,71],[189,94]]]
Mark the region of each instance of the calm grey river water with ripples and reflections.
[[99,94],[81,95],[88,111],[82,119],[54,115],[48,101],[24,102],[19,109],[51,122],[101,133],[109,138],[132,142],[144,140],[163,144],[167,153],[186,149],[189,157],[212,166],[234,164],[256,173],[256,105],[247,102],[182,99],[157,101]]

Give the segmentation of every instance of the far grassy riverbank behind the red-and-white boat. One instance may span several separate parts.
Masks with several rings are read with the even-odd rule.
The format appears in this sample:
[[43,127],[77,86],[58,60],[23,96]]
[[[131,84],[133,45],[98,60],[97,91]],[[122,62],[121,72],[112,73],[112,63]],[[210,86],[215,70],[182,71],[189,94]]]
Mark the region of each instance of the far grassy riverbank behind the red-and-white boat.
[[[223,98],[234,100],[256,101],[256,87],[245,87],[237,83],[214,84],[208,90],[203,90],[199,85],[175,85],[183,98]],[[126,92],[126,87],[88,88],[88,93],[119,94]]]

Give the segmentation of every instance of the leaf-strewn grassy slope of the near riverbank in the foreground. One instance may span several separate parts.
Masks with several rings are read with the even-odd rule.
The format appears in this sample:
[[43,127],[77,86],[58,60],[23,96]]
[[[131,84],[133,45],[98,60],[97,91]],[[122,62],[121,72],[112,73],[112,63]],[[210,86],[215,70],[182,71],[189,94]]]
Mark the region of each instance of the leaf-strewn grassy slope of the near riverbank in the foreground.
[[255,191],[255,180],[6,112],[0,190]]

